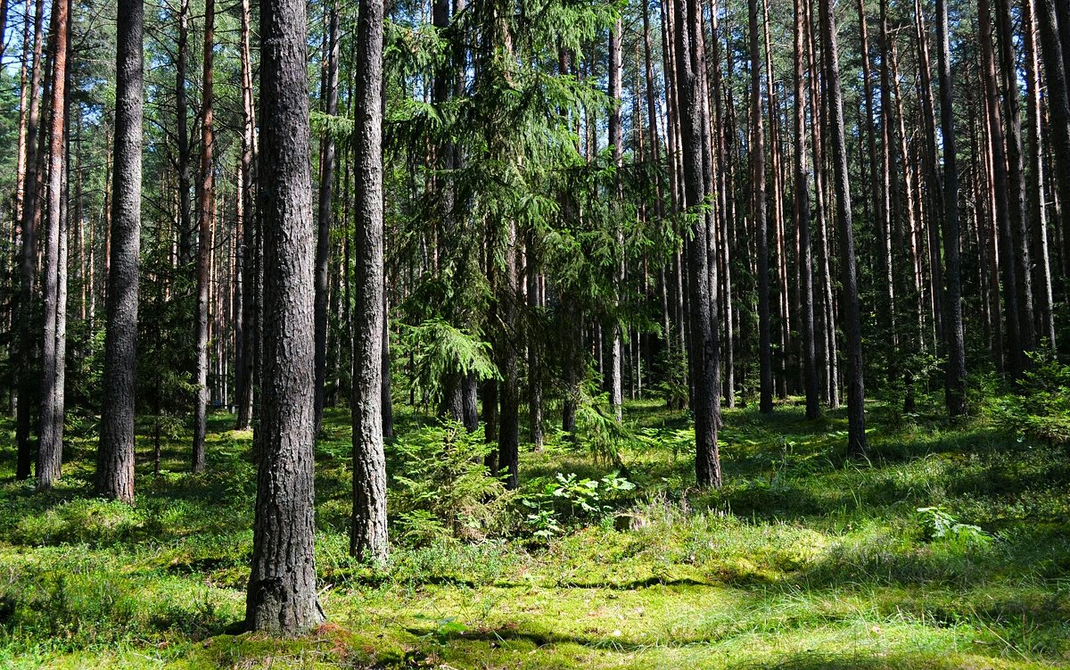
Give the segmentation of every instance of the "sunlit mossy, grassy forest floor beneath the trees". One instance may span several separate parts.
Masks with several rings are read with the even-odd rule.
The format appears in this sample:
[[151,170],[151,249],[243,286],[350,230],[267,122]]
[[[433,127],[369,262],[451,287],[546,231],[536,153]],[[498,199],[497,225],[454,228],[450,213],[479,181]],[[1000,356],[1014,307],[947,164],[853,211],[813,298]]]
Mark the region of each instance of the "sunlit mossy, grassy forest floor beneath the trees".
[[[727,410],[719,492],[688,487],[685,420],[631,402],[640,439],[621,457],[637,486],[587,522],[401,538],[377,568],[347,557],[347,413],[331,413],[316,547],[328,621],[291,640],[235,625],[256,485],[232,417],[212,417],[204,475],[185,473],[179,436],[154,476],[139,436],[135,508],[90,498],[92,423],[68,422],[44,494],[14,481],[3,424],[0,667],[1070,668],[1070,458],[983,416],[952,426],[930,401],[905,420],[874,405],[862,461],[842,456],[842,412]],[[398,420],[401,441],[429,422]],[[524,450],[522,492],[615,469],[550,442]]]

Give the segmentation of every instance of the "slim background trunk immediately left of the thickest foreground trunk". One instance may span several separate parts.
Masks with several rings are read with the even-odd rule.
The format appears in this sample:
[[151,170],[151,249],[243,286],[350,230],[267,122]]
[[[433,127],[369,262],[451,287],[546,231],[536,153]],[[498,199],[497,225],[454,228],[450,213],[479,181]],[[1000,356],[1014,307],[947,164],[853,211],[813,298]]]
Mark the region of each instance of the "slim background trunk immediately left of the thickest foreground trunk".
[[[256,169],[256,112],[253,104],[253,57],[249,48],[249,32],[251,21],[249,0],[242,0],[242,211],[244,222],[242,228],[242,352],[234,366],[234,398],[239,430],[253,427],[254,378],[257,362],[260,331],[257,328],[257,314],[261,307],[261,283],[259,281],[261,231],[260,217],[256,209],[256,189],[254,170]],[[240,364],[238,364],[240,362]]]

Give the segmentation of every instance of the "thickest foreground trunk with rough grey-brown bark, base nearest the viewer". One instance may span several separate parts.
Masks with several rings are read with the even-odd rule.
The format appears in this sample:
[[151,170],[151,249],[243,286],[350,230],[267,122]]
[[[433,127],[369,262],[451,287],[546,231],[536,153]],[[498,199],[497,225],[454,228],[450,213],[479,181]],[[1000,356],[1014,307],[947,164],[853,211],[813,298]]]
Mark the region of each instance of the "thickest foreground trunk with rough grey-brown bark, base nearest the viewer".
[[304,2],[266,0],[260,5],[257,209],[263,217],[262,369],[268,383],[260,396],[245,622],[254,630],[285,635],[304,633],[323,620],[312,552],[315,326],[306,26]]

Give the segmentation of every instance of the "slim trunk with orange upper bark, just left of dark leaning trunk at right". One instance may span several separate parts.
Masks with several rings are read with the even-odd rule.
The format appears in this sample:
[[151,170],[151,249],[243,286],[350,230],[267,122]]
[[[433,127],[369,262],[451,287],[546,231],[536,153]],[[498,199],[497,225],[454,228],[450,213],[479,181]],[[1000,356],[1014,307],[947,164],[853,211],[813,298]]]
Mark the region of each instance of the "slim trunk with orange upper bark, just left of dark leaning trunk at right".
[[821,415],[817,399],[816,344],[813,333],[813,252],[810,245],[810,174],[806,161],[806,83],[802,73],[806,56],[806,13],[801,0],[795,0],[795,225],[799,235],[799,296],[801,299],[802,385],[806,392],[806,416]]

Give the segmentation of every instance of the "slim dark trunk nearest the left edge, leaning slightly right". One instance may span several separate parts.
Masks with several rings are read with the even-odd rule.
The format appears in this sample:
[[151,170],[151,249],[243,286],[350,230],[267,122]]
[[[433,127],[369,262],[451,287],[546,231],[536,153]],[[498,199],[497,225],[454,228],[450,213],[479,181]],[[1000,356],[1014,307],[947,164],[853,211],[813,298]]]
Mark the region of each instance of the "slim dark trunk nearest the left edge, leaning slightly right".
[[33,66],[30,68],[30,113],[27,121],[26,141],[26,178],[22,198],[22,252],[19,264],[21,267],[21,285],[18,296],[18,337],[19,337],[19,374],[18,374],[18,409],[15,418],[15,442],[18,447],[18,458],[15,477],[26,479],[30,476],[30,463],[33,460],[30,445],[30,420],[34,400],[36,377],[33,374],[33,357],[36,348],[36,337],[33,328],[33,295],[34,280],[37,272],[37,223],[41,220],[41,202],[37,197],[37,124],[41,116],[41,72],[42,48],[44,44],[44,0],[37,0],[33,19]]

